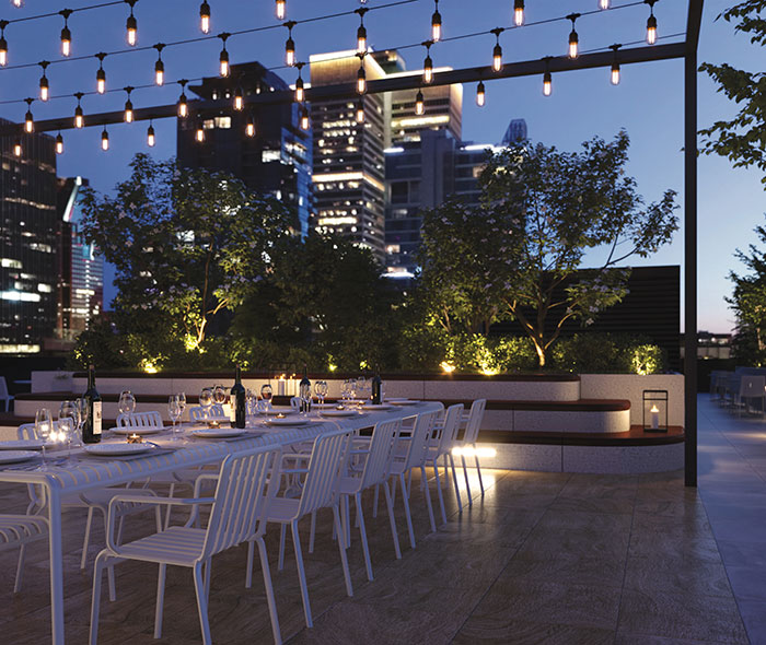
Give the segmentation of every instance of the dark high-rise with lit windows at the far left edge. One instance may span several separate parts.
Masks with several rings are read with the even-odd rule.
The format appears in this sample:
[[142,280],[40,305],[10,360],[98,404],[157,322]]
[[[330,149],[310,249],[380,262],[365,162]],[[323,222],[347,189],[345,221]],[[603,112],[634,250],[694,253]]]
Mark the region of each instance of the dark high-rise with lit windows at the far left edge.
[[23,134],[19,143],[15,150],[14,137],[0,138],[0,353],[4,354],[39,352],[56,327],[59,226],[54,139]]

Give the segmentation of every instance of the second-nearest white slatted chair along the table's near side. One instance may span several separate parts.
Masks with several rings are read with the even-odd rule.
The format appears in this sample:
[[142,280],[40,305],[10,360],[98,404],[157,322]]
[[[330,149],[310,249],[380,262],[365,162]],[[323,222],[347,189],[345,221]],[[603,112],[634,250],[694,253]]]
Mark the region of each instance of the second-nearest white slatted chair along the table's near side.
[[[338,536],[338,550],[340,551],[340,563],[346,579],[346,591],[353,596],[351,586],[351,575],[348,570],[346,558],[346,544],[344,530],[340,524],[339,485],[340,477],[346,471],[348,461],[348,450],[352,431],[336,430],[320,435],[314,441],[314,447],[310,455],[307,468],[282,469],[283,474],[304,473],[305,480],[301,489],[300,497],[275,497],[269,501],[266,515],[268,521],[278,523],[280,527],[279,536],[279,570],[285,567],[285,535],[287,526],[292,530],[292,544],[295,551],[295,563],[298,565],[298,579],[303,599],[303,613],[306,626],[313,626],[311,617],[311,605],[309,602],[309,587],[306,585],[305,568],[303,566],[303,553],[301,550],[301,539],[298,532],[298,523],[302,517],[311,515],[320,508],[332,508],[335,521],[335,531]],[[288,458],[302,458],[302,455],[285,455]],[[252,568],[253,546],[247,552],[247,570]]]

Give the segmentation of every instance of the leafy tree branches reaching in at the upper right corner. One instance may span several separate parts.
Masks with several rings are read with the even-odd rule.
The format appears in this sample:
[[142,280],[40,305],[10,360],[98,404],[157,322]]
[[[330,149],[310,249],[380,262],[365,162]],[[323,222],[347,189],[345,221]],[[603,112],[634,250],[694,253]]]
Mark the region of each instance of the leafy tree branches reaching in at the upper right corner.
[[[751,44],[763,47],[766,45],[766,19],[762,17],[765,9],[766,0],[745,0],[718,19],[733,22],[735,32],[748,34]],[[763,56],[754,60],[763,61]],[[716,121],[701,130],[703,151],[726,156],[734,167],[758,167],[764,173],[762,183],[766,187],[766,72],[710,62],[703,63],[700,70],[718,83],[719,92],[741,106],[734,118]]]

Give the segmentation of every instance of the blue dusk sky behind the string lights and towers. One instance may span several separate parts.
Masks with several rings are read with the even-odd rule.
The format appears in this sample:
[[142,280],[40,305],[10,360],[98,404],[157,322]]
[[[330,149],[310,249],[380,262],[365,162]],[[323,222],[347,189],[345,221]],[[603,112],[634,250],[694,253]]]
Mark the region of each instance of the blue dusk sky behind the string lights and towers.
[[[257,26],[277,24],[272,0],[257,2],[209,0],[212,10],[211,34],[235,32]],[[752,71],[763,69],[763,49],[748,44],[745,36],[735,36],[733,27],[715,17],[734,0],[708,0],[701,31],[699,60],[726,61]],[[65,8],[62,2],[25,0],[22,9],[14,9],[9,0],[0,17],[12,20],[27,15],[56,12]],[[71,0],[66,7],[77,9],[95,2]],[[385,0],[370,0],[369,8],[385,4]],[[444,37],[483,32],[495,26],[510,26],[512,21],[510,0],[441,0]],[[628,0],[614,0],[613,5],[635,4]],[[328,13],[351,11],[358,0],[288,0],[288,17],[300,21]],[[596,0],[527,0],[526,20],[562,16],[571,12],[589,12],[596,8]],[[659,0],[654,13],[660,36],[681,34],[685,31],[686,0]],[[371,11],[365,17],[370,45],[373,49],[399,48],[426,40],[430,34],[432,0],[417,0],[391,9]],[[646,4],[583,15],[577,23],[580,46],[583,51],[602,49],[613,43],[630,44],[645,36],[649,8]],[[72,32],[72,56],[95,55],[98,51],[127,49],[125,21],[128,7],[115,5],[73,14],[69,20]],[[193,0],[138,0],[135,15],[138,19],[139,45],[171,43],[201,36],[199,31],[199,2]],[[299,60],[307,60],[311,54],[350,49],[355,47],[357,15],[298,25],[293,32]],[[61,59],[59,32],[60,16],[14,23],[5,30],[9,45],[9,68],[36,63],[47,59]],[[538,59],[544,56],[566,54],[569,22],[554,22],[541,26],[509,30],[501,36],[506,62]],[[258,60],[269,68],[282,66],[285,28],[232,36],[228,42],[231,62]],[[683,36],[666,38],[661,43],[677,42]],[[436,66],[463,68],[488,64],[491,60],[494,36],[437,44],[431,56]],[[218,38],[167,47],[163,51],[167,81],[198,79],[216,75],[221,42]],[[423,48],[418,46],[402,50],[410,69],[422,66]],[[146,85],[153,81],[156,51],[135,51],[107,56],[104,69],[111,90],[126,85]],[[47,70],[55,98],[43,104],[35,101],[32,112],[35,119],[73,115],[74,92],[95,90],[95,57],[82,61],[54,63]],[[287,81],[293,82],[292,69],[276,69]],[[40,68],[3,69],[3,92],[0,98],[0,116],[23,120],[26,106],[9,103],[26,96],[37,96]],[[306,75],[306,74],[304,74]],[[708,126],[734,114],[734,106],[707,78],[699,77],[699,125]],[[683,62],[664,61],[623,67],[619,86],[608,80],[608,70],[589,70],[554,75],[554,93],[544,97],[542,79],[508,79],[487,83],[487,105],[475,104],[475,86],[464,87],[463,138],[477,143],[497,143],[512,118],[524,118],[530,138],[574,150],[579,144],[597,134],[612,138],[625,128],[632,141],[629,172],[637,178],[639,191],[647,201],[659,199],[666,188],[678,191],[683,206]],[[179,94],[177,84],[164,87],[137,90],[132,95],[136,108],[174,103]],[[83,98],[85,115],[121,109],[125,92],[112,92],[104,96]],[[90,179],[98,190],[109,191],[127,177],[127,164],[137,152],[147,152],[147,122],[115,125],[108,128],[111,150],[100,149],[101,125],[81,131],[65,131],[66,152],[58,160],[60,176],[81,175]],[[151,153],[166,159],[175,153],[175,119],[154,122],[158,144]],[[54,134],[56,134],[54,132]],[[733,169],[720,157],[704,156],[699,162],[699,328],[710,331],[728,331],[733,316],[723,297],[730,293],[727,274],[739,270],[733,257],[735,249],[744,248],[754,239],[753,228],[763,223],[766,194],[757,171]],[[678,211],[682,215],[683,210]],[[596,257],[591,258],[593,262]],[[639,261],[634,263],[638,265]],[[655,256],[640,260],[647,265],[682,265],[683,231],[674,243]],[[683,284],[683,283],[682,283]],[[107,288],[111,300],[114,290]]]

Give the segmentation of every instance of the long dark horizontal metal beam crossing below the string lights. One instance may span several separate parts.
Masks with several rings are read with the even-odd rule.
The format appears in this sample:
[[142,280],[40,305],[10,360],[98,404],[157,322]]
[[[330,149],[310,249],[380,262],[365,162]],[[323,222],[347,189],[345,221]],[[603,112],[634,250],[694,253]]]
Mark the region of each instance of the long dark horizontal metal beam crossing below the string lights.
[[[620,64],[631,64],[637,62],[652,62],[658,60],[671,60],[683,58],[686,54],[685,43],[674,43],[670,45],[654,45],[620,49],[616,54]],[[511,79],[518,77],[542,75],[546,69],[550,72],[567,72],[594,68],[610,68],[615,60],[612,51],[600,51],[596,54],[583,54],[572,60],[567,57],[557,57],[546,60],[526,60],[512,62],[503,66],[502,70],[496,72],[490,66],[474,67],[460,70],[450,70],[433,74],[431,85],[452,85],[454,83],[472,83],[478,81],[491,81],[496,79]],[[397,92],[402,90],[416,90],[422,85],[419,74],[379,79],[368,82],[368,94],[380,94],[383,92]],[[358,97],[356,83],[340,83],[336,85],[313,86],[306,90],[306,101],[326,101],[330,98],[353,98]],[[264,92],[245,96],[245,108],[247,106],[292,103],[292,91]],[[194,114],[195,105],[200,105],[200,101],[189,101],[189,110]],[[134,119],[143,121],[149,119],[163,119],[176,116],[176,105],[159,105],[136,109]],[[221,98],[218,101],[206,101],[205,110],[231,110],[231,99]],[[103,127],[112,124],[124,122],[123,112],[106,112],[100,114],[85,115],[86,126]],[[35,121],[35,132],[56,132],[58,130],[74,129],[72,116],[65,116],[54,119]],[[0,126],[0,137],[19,134],[20,125]]]

